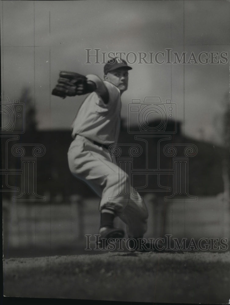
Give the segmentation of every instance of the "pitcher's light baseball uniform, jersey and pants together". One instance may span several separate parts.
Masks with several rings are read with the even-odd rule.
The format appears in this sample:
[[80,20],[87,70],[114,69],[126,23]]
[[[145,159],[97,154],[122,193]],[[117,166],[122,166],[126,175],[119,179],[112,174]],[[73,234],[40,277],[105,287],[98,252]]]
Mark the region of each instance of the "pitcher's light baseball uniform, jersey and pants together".
[[107,207],[114,210],[126,223],[129,237],[143,237],[147,229],[146,206],[137,200],[140,195],[132,186],[131,194],[126,191],[129,177],[117,166],[107,147],[117,143],[119,136],[120,91],[109,81],[103,83],[109,93],[108,103],[96,92],[90,93],[72,123],[74,140],[68,150],[69,168],[101,198],[99,211]]

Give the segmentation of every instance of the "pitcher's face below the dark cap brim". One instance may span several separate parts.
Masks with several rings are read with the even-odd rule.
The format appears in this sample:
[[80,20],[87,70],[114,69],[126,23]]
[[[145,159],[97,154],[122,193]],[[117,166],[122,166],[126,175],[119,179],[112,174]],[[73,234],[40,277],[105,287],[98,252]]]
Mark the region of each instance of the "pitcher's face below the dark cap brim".
[[127,69],[119,68],[110,71],[105,75],[104,79],[117,86],[121,93],[126,91],[128,88],[129,74]]

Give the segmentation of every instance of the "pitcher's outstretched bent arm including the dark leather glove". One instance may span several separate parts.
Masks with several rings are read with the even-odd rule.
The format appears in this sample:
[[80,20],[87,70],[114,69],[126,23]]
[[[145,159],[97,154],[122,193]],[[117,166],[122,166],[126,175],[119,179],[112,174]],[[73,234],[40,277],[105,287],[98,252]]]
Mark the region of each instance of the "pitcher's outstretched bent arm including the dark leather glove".
[[61,71],[60,78],[52,94],[65,98],[66,96],[83,95],[95,91],[105,104],[108,103],[109,94],[103,81],[94,74],[84,75]]

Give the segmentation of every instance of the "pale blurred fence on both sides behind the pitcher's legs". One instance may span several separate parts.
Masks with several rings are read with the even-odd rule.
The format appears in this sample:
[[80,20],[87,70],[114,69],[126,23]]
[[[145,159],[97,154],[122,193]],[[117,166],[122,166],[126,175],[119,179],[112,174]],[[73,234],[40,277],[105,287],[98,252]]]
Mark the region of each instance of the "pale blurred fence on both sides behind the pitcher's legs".
[[[164,201],[148,193],[149,212],[145,237],[172,234],[177,238],[230,239],[229,199],[223,195],[198,197],[198,201]],[[72,196],[68,202],[3,202],[4,251],[11,248],[58,248],[84,244],[85,234],[97,234],[99,199],[82,200]],[[125,229],[118,218],[115,225]]]

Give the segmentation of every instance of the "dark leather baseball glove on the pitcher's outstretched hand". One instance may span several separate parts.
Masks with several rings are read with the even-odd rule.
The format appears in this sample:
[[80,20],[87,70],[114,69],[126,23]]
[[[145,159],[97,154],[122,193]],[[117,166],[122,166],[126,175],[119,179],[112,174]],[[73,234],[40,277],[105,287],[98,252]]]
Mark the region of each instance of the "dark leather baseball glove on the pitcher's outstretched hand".
[[92,82],[87,83],[87,78],[84,75],[61,71],[56,87],[53,89],[52,94],[62,97],[82,95],[93,92],[95,87]]

